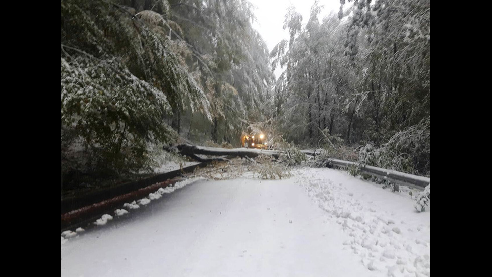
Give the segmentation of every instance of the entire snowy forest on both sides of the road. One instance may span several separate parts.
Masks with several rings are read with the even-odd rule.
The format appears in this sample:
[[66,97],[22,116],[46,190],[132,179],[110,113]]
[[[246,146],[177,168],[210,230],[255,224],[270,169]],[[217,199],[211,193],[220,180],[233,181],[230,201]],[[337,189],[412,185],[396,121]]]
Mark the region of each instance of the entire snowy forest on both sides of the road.
[[429,0],[340,2],[322,19],[315,2],[307,24],[290,8],[269,53],[246,0],[62,0],[62,186],[258,130],[430,176]]

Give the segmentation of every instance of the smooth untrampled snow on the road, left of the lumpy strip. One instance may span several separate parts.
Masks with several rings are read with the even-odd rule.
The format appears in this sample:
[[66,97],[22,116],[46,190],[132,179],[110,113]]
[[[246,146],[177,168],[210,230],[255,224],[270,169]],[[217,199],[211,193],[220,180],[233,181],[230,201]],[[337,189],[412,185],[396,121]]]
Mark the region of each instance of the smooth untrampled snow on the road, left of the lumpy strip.
[[377,276],[288,180],[199,181],[62,245],[63,276]]

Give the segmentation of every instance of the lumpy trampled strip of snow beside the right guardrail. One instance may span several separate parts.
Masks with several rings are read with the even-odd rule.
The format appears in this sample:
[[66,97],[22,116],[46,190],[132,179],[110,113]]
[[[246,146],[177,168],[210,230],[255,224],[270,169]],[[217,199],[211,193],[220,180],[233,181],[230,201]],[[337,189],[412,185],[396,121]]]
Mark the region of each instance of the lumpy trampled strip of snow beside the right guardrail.
[[303,168],[293,175],[328,220],[349,234],[340,243],[368,270],[385,276],[430,275],[430,212],[416,212],[408,193],[392,193],[328,168]]

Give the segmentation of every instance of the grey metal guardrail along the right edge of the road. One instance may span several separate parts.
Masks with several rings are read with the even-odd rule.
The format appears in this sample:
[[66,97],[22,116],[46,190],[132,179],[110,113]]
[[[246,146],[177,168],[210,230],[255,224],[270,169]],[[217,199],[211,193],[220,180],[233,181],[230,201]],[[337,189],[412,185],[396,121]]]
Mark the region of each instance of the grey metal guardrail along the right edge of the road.
[[418,190],[424,190],[424,188],[430,183],[430,178],[403,173],[396,170],[388,170],[374,166],[359,165],[356,162],[328,159],[327,165],[346,168],[347,166],[357,166],[359,170],[383,180],[388,180],[393,183],[402,184],[403,186],[412,187]]

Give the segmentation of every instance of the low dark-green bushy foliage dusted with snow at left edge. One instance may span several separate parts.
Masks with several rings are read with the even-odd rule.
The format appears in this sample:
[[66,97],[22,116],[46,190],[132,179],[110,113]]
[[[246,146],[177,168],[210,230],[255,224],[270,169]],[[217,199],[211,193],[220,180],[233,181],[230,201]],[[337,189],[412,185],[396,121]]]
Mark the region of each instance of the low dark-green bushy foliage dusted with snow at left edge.
[[[166,96],[114,59],[62,58],[61,101],[62,155],[74,158],[71,140],[80,138],[91,156],[88,167],[138,170],[147,142],[176,138],[162,123],[171,111]],[[64,141],[68,133],[71,140]]]

